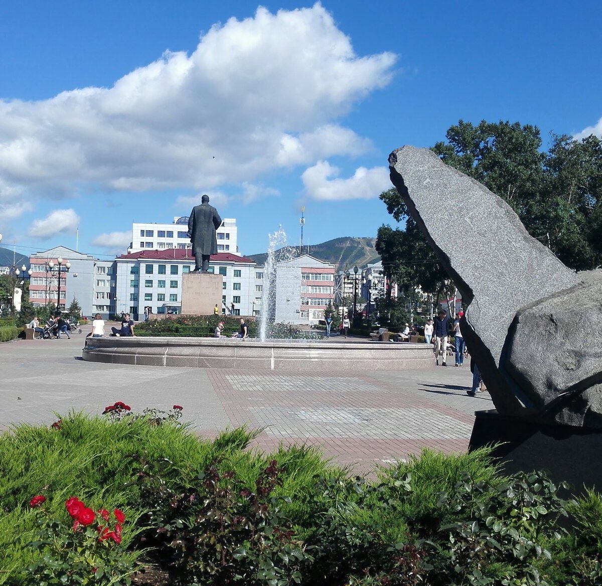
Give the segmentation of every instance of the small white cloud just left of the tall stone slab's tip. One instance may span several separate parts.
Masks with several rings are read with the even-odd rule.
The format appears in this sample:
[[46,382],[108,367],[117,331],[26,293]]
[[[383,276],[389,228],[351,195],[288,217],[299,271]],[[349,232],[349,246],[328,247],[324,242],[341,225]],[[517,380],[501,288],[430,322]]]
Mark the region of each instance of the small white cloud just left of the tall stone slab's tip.
[[353,176],[346,179],[338,175],[338,167],[328,161],[318,161],[303,172],[301,179],[310,198],[329,201],[376,198],[391,187],[387,167],[358,167]]

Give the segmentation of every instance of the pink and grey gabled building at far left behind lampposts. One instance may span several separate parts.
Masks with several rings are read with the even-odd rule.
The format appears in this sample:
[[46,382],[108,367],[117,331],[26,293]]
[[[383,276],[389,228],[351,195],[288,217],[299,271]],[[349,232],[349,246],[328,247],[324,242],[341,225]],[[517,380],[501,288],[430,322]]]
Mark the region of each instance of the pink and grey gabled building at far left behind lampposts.
[[[67,262],[70,263],[68,272],[49,270],[49,261],[57,267],[58,258],[63,259],[63,267]],[[29,281],[29,301],[33,305],[54,303],[64,310],[69,307],[73,299],[77,299],[84,316],[92,314],[95,275],[95,258],[92,255],[74,251],[66,246],[56,246],[32,255],[29,264],[32,271]],[[59,290],[60,299],[58,299]]]

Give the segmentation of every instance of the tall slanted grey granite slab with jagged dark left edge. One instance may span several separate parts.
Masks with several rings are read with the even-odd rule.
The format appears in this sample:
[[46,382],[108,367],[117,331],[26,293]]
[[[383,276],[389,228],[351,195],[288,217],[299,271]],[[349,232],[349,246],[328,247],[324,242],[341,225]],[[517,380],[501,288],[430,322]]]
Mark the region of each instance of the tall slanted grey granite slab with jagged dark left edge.
[[508,328],[521,307],[573,287],[579,277],[527,233],[501,198],[429,149],[397,149],[389,165],[409,212],[470,302],[461,328],[495,407],[536,412],[530,396],[500,376]]

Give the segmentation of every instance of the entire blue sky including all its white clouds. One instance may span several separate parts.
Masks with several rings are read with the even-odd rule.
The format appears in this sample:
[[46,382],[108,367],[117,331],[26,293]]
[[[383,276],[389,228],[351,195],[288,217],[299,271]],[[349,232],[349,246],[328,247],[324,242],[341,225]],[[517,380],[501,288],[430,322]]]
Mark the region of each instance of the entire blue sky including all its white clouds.
[[0,233],[125,252],[208,193],[243,254],[374,236],[387,157],[459,119],[602,136],[597,1],[0,4]]

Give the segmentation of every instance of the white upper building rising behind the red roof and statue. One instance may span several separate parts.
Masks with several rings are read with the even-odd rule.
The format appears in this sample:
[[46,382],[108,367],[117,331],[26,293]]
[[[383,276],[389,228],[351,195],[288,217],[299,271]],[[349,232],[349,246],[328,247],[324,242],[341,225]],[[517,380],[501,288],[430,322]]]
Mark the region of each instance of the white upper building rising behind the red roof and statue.
[[[148,250],[190,249],[188,216],[175,217],[170,224],[140,223],[132,224],[132,242],[128,253]],[[238,228],[236,219],[226,218],[216,231],[217,252],[238,254]]]

